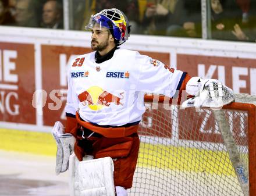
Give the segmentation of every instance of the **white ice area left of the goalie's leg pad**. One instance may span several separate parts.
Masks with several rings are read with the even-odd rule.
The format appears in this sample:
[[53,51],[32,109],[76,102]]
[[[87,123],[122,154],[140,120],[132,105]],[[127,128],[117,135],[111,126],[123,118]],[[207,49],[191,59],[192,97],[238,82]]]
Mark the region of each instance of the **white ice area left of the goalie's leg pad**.
[[55,174],[55,157],[0,150],[0,195],[67,196],[68,172]]

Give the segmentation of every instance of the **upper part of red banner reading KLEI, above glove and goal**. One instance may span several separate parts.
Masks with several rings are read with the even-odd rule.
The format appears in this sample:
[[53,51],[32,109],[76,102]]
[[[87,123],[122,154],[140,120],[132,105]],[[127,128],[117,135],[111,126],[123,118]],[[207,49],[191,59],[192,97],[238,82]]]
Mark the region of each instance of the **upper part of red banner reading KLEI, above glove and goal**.
[[177,69],[218,79],[235,93],[256,93],[256,59],[177,54]]

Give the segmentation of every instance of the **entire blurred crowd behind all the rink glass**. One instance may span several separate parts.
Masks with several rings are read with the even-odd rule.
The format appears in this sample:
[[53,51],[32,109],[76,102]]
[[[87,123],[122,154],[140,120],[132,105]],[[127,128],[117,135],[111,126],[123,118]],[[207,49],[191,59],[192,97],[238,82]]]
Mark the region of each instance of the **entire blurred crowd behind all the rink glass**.
[[[65,0],[0,0],[0,25],[63,29]],[[211,38],[256,40],[256,0],[208,0]],[[84,30],[92,14],[117,8],[131,34],[202,37],[201,0],[69,0],[69,29]]]

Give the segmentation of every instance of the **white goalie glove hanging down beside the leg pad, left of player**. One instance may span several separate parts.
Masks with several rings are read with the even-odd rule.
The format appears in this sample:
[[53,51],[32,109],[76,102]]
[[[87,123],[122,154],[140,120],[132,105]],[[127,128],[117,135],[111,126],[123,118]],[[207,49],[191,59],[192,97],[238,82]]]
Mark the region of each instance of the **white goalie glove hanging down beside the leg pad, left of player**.
[[61,122],[57,121],[52,129],[52,136],[57,144],[56,153],[56,174],[66,172],[69,168],[69,156],[74,151],[74,142],[76,138],[70,133],[64,133],[64,126]]

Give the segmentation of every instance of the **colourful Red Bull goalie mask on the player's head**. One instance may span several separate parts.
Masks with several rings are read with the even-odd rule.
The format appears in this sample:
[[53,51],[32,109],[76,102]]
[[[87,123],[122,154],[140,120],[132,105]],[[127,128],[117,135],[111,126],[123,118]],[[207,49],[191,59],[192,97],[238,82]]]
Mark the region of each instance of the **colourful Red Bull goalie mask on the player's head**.
[[130,36],[129,21],[125,14],[118,9],[104,9],[92,15],[90,22],[85,27],[86,30],[92,29],[95,23],[98,23],[100,28],[108,28],[115,38],[117,45],[123,44]]

